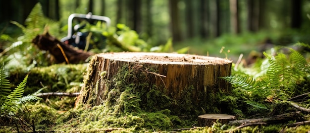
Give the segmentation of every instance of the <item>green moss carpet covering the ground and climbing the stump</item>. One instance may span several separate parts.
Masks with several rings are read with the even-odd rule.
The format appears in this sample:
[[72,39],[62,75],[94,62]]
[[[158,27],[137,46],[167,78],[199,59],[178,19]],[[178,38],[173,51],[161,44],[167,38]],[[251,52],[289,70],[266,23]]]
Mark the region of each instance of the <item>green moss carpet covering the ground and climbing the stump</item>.
[[[34,67],[29,72],[25,92],[34,93],[42,87],[46,88],[43,90],[44,92],[79,92],[83,86],[83,77],[88,65]],[[156,91],[157,86],[142,91],[139,88],[144,88],[147,85],[138,81],[138,79],[141,80],[140,78],[129,78],[135,74],[134,70],[127,71],[127,73],[122,72],[124,71],[116,74],[113,80],[107,84],[110,85],[110,89],[106,92],[103,104],[94,107],[89,104],[75,105],[76,97],[44,97],[35,103],[23,105],[16,114],[19,119],[16,117],[14,119],[13,117],[11,119],[1,118],[0,133],[33,132],[34,129],[36,132],[65,133],[275,133],[280,131],[283,133],[305,133],[310,130],[309,125],[285,127],[287,123],[294,123],[294,121],[248,126],[240,129],[237,126],[220,123],[214,123],[211,127],[197,127],[197,117],[203,113],[226,113],[235,115],[238,119],[247,119],[257,115],[266,116],[268,112],[243,102],[248,98],[248,94],[237,88],[230,93],[210,94],[209,96],[214,99],[213,103],[210,103],[212,106],[190,114],[180,113],[173,110],[172,106],[177,105],[173,99]],[[18,79],[13,80],[12,76],[20,78],[26,74],[20,71],[11,73],[12,84],[16,84],[15,81],[18,82]],[[138,75],[136,76],[138,77]],[[145,101],[149,101],[149,103]],[[287,105],[278,105],[278,107],[281,106]],[[286,110],[278,108],[278,112],[294,111],[294,109],[282,108]],[[304,117],[307,120],[308,116],[304,115]]]

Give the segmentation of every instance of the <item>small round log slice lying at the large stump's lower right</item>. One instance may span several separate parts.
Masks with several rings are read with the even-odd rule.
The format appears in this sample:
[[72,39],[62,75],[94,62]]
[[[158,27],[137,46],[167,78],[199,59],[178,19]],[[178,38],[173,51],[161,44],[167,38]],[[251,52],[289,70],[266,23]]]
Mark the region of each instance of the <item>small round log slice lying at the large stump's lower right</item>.
[[235,116],[226,115],[226,114],[205,114],[198,117],[198,126],[199,127],[210,127],[213,125],[213,122],[218,121],[221,124],[226,124],[229,121],[236,120]]

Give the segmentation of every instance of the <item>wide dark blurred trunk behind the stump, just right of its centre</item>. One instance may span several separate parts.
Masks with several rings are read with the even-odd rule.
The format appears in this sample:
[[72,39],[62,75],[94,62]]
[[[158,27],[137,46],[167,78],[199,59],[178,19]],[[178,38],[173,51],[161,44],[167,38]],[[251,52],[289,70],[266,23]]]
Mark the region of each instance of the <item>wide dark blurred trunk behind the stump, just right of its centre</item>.
[[172,38],[174,42],[179,42],[181,38],[181,28],[179,21],[179,0],[169,0],[169,10],[170,10],[170,28],[172,33]]

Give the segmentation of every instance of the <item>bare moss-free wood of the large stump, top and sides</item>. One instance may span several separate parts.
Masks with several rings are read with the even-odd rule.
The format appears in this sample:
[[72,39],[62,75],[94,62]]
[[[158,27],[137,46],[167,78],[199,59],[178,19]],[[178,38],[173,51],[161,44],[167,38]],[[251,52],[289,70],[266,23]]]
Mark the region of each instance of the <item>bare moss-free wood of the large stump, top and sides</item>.
[[[136,73],[144,75],[142,82],[133,81],[133,84],[147,84],[145,88],[139,89],[150,90],[155,85],[165,95],[180,101],[181,104],[193,106],[196,103],[208,103],[204,101],[204,97],[207,97],[205,94],[219,90],[229,91],[231,85],[219,77],[230,75],[231,63],[232,61],[221,58],[175,53],[97,54],[92,58],[84,77],[85,86],[78,102],[93,106],[102,104],[106,99],[105,91],[114,86],[107,84],[113,82],[113,76],[125,66],[127,71],[135,70]],[[136,78],[138,77],[123,79],[122,82],[137,80]],[[186,97],[190,97],[189,103],[185,103]],[[197,108],[201,110],[203,107]]]

